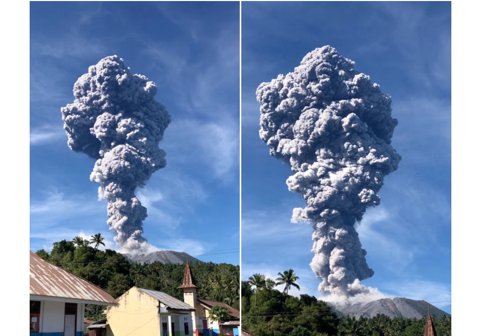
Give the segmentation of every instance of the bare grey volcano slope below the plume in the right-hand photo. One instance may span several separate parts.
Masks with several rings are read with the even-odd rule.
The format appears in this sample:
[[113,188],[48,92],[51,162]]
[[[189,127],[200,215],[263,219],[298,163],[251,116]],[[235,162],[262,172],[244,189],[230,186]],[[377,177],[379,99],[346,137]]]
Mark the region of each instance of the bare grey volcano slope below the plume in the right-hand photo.
[[392,299],[379,299],[368,303],[335,303],[327,302],[331,307],[337,310],[339,313],[349,316],[360,316],[364,318],[371,318],[377,314],[384,314],[389,317],[403,317],[403,318],[416,318],[421,319],[427,315],[428,306],[430,306],[431,315],[435,315],[438,318],[443,315],[448,315],[445,311],[434,307],[432,304],[426,301],[417,301],[407,298],[392,298]]

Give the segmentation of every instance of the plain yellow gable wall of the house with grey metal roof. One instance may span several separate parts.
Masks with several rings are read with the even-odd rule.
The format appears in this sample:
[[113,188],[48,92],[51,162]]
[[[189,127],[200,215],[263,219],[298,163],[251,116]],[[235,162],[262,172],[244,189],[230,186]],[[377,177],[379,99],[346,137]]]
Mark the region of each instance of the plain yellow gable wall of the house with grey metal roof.
[[107,321],[114,336],[159,336],[158,300],[132,287],[107,308]]

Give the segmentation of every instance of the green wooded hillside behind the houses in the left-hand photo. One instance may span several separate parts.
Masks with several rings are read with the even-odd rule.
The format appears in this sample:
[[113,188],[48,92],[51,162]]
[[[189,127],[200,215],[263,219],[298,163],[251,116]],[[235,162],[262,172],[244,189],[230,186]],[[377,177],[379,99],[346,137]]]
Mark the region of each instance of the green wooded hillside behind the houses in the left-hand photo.
[[[129,261],[121,253],[99,249],[104,245],[103,237],[93,235],[90,240],[75,237],[72,241],[53,244],[50,253],[44,249],[36,254],[42,259],[71,272],[118,298],[132,286],[162,291],[181,301],[183,292],[178,288],[184,277],[185,263],[153,262],[141,264]],[[92,246],[93,245],[93,246]],[[228,263],[191,263],[192,275],[199,287],[197,297],[218,302],[239,309],[240,268]],[[86,305],[85,318],[100,320],[105,309],[100,305]]]

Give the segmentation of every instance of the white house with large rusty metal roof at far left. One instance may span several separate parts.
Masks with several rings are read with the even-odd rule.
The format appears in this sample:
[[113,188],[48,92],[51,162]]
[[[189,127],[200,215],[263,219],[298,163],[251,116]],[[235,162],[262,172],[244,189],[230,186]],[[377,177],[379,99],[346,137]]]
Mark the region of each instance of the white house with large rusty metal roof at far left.
[[82,336],[85,304],[116,305],[100,287],[30,251],[30,335]]

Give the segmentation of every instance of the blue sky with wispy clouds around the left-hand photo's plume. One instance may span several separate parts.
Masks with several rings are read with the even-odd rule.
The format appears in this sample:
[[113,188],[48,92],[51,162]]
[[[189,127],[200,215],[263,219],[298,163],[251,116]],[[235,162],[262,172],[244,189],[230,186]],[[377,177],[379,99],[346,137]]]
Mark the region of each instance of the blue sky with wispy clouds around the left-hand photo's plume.
[[167,166],[136,196],[157,249],[239,265],[239,3],[30,3],[30,249],[109,231],[94,159],[67,147],[60,108],[118,55],[156,83]]

